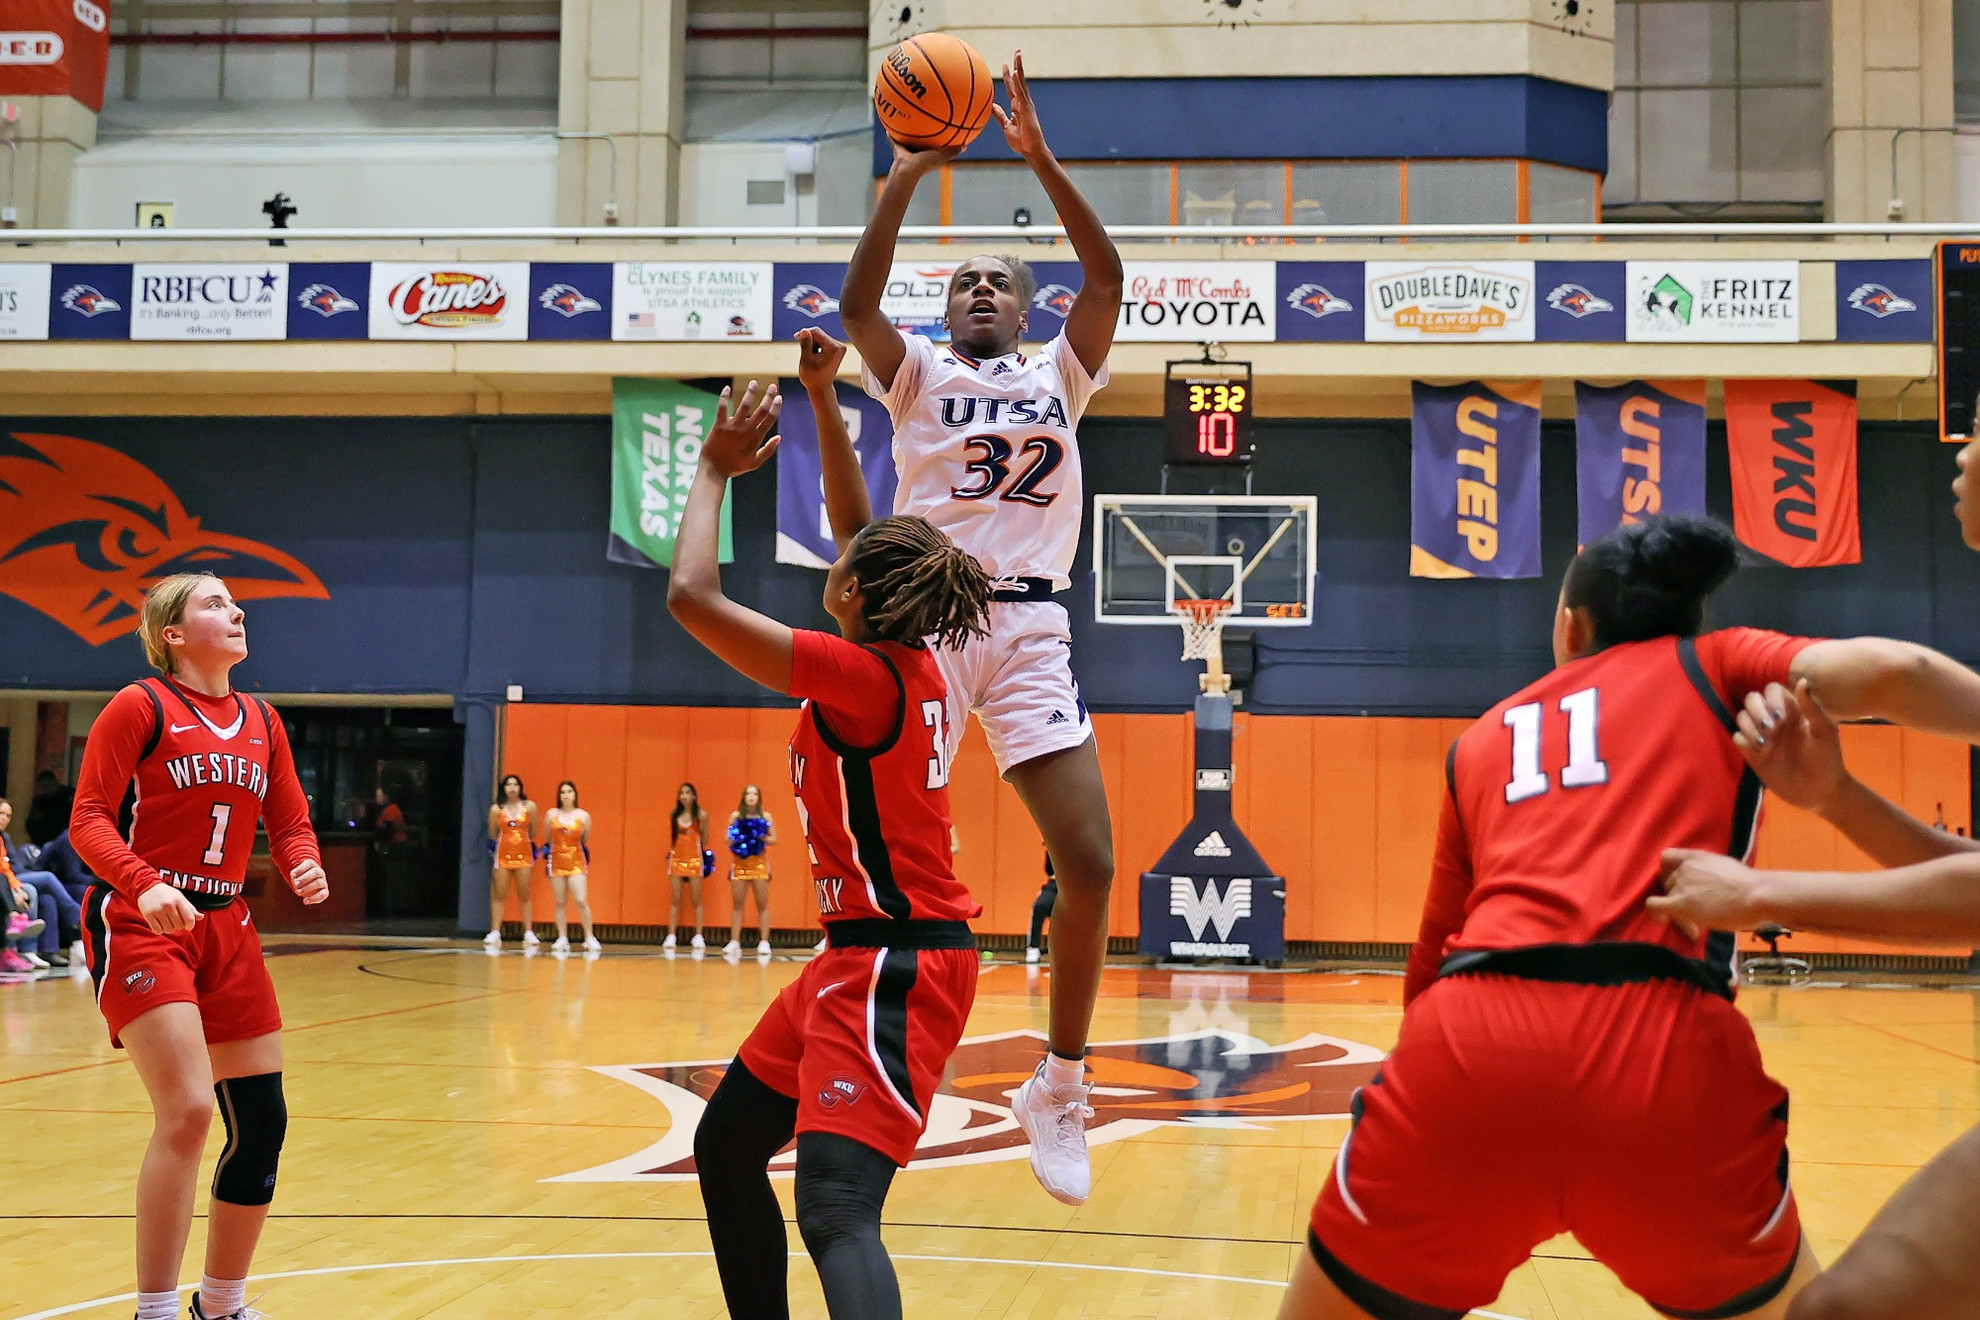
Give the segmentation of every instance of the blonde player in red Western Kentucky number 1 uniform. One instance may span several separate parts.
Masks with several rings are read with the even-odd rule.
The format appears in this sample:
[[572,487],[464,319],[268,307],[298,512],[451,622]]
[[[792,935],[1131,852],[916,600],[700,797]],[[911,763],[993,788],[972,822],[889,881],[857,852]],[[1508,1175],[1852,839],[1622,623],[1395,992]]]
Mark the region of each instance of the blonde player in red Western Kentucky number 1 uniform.
[[[145,655],[158,679],[97,716],[75,784],[69,843],[101,877],[83,900],[83,948],[111,1043],[131,1053],[152,1134],[137,1174],[139,1320],[178,1312],[178,1265],[214,1100],[228,1128],[214,1168],[206,1274],[192,1314],[255,1320],[246,1304],[289,1110],[281,1011],[242,898],[255,821],[303,902],[329,885],[289,734],[234,691],[248,629],[220,578],[178,574],[145,594]],[[117,813],[135,784],[129,841]]]

